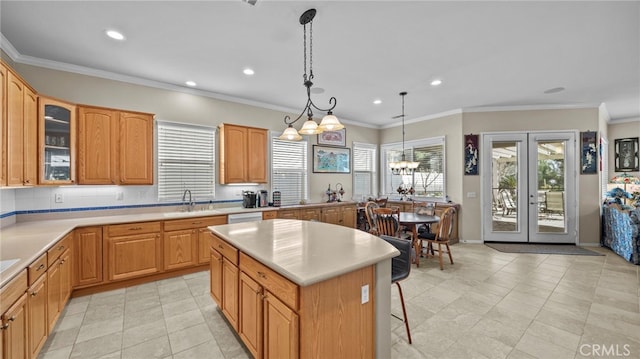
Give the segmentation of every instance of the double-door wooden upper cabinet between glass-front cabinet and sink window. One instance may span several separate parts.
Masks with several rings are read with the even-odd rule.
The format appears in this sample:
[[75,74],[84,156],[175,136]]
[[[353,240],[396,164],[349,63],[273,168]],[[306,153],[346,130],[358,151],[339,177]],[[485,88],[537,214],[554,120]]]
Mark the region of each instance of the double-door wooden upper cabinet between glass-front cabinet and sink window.
[[153,115],[78,106],[78,183],[153,184]]

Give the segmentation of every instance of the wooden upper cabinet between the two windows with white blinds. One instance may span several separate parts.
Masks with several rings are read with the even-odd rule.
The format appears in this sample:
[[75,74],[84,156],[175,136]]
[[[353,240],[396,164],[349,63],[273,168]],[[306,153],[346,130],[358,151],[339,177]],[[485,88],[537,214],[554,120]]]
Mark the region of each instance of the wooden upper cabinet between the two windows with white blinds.
[[267,130],[220,125],[220,183],[267,183]]

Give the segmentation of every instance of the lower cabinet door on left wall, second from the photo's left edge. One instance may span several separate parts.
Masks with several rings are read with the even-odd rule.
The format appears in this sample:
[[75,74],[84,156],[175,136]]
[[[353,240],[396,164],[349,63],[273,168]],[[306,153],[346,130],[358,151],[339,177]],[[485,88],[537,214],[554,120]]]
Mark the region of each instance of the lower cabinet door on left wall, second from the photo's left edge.
[[28,346],[31,358],[47,341],[47,275],[42,275],[27,290]]

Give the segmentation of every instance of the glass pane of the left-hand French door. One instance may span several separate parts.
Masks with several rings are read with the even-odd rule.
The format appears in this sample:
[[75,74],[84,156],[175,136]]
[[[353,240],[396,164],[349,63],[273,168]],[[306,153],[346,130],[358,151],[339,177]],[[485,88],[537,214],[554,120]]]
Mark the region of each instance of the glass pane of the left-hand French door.
[[518,151],[515,141],[492,142],[492,231],[519,231],[517,216]]

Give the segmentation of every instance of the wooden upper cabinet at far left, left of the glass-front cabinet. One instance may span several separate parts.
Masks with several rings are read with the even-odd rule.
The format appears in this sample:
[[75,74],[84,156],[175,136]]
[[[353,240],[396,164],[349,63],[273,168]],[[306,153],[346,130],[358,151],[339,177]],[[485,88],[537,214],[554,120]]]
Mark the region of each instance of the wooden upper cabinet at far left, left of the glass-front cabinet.
[[[2,151],[5,186],[37,184],[37,95],[18,75],[3,67]],[[6,78],[6,80],[5,80]],[[5,87],[6,86],[6,87]]]

